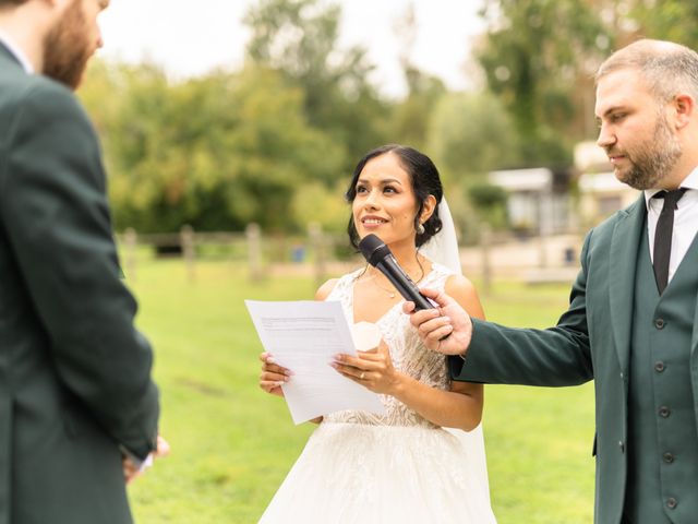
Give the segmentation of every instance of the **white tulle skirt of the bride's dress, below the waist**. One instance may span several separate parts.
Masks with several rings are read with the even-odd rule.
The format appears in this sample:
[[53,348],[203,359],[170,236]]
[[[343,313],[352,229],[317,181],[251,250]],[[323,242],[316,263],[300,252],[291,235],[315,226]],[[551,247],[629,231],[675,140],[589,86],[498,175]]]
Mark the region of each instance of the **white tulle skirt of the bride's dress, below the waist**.
[[495,523],[467,443],[444,429],[323,422],[260,521]]

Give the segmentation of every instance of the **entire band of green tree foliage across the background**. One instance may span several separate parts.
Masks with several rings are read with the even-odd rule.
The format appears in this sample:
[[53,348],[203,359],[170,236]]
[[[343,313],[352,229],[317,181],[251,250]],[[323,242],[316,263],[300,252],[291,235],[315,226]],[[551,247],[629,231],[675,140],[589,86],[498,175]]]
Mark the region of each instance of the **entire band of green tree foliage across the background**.
[[484,0],[483,93],[449,93],[414,67],[408,10],[397,27],[408,93],[388,100],[365,49],[340,48],[336,3],[260,0],[243,68],[173,82],[152,63],[97,60],[80,96],[103,138],[119,229],[340,230],[354,163],[386,142],[433,157],[466,223],[466,196],[484,198],[467,188],[484,174],[568,165],[571,144],[593,138],[592,74],[611,50],[638,36],[698,47],[696,5]]

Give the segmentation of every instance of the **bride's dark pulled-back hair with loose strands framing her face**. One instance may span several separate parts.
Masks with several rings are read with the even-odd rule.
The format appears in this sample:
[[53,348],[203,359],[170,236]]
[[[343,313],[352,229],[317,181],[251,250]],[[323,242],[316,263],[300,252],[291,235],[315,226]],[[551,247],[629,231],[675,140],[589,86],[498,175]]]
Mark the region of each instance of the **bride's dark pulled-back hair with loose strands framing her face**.
[[[412,183],[412,191],[414,191],[414,196],[417,198],[417,202],[419,203],[419,209],[417,210],[417,215],[414,215],[414,228],[419,225],[419,217],[424,209],[424,201],[429,198],[430,194],[433,194],[436,199],[436,205],[441,203],[441,199],[444,196],[444,190],[441,186],[441,177],[438,176],[438,169],[432,162],[432,159],[423,153],[419,151],[408,147],[406,145],[398,144],[387,144],[382,145],[381,147],[376,147],[373,151],[366,153],[366,155],[359,160],[357,167],[353,169],[353,176],[351,177],[351,182],[349,183],[349,188],[347,188],[347,192],[345,196],[347,202],[351,203],[357,198],[357,182],[359,180],[359,175],[369,163],[369,160],[376,158],[378,156],[385,155],[387,153],[395,154],[407,174],[410,177],[410,181]],[[438,218],[438,213],[434,210],[432,216],[422,224],[424,226],[424,233],[417,234],[414,239],[414,243],[419,248],[423,243],[425,243],[430,238],[441,231],[442,223],[441,218]],[[349,241],[351,246],[353,246],[357,250],[359,249],[359,241],[361,238],[359,237],[359,233],[357,231],[357,227],[353,224],[353,216],[349,217],[349,225],[347,226],[347,233],[349,234]]]

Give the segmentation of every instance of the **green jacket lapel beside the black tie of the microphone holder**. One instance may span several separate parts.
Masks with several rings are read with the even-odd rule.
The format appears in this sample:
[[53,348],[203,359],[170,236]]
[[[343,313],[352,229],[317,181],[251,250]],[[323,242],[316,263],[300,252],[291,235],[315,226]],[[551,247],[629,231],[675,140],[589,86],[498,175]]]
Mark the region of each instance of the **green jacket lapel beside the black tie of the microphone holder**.
[[613,341],[621,362],[621,370],[627,373],[630,356],[637,250],[640,235],[647,235],[642,227],[647,213],[645,196],[640,195],[624,213],[625,215],[618,218],[611,239],[609,298]]

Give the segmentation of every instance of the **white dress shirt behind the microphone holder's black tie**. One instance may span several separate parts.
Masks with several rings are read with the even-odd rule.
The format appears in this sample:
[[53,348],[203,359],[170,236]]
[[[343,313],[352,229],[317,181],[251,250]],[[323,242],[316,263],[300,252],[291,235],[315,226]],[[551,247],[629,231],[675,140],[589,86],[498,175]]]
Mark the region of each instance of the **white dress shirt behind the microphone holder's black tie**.
[[[698,167],[696,167],[684,179],[679,186],[687,191],[678,201],[677,210],[674,212],[674,230],[672,235],[672,252],[669,259],[669,282],[672,281],[676,269],[684,260],[688,248],[698,233]],[[662,212],[664,201],[652,199],[661,189],[648,189],[645,191],[645,202],[647,204],[647,234],[650,241],[650,258],[654,262],[654,231],[657,221]]]

